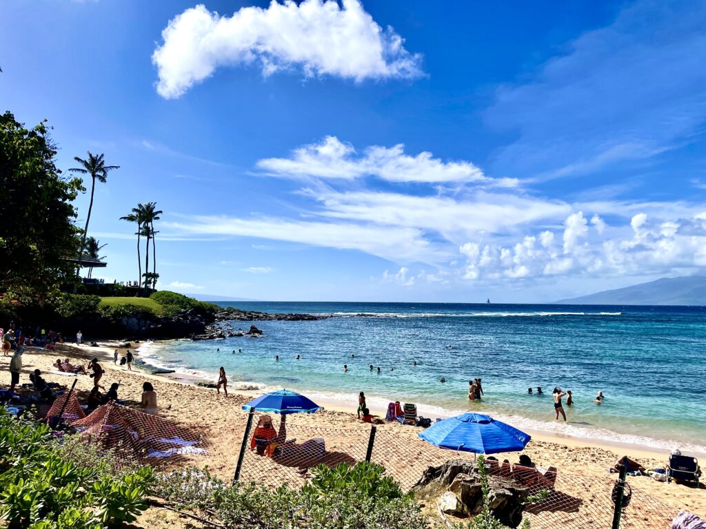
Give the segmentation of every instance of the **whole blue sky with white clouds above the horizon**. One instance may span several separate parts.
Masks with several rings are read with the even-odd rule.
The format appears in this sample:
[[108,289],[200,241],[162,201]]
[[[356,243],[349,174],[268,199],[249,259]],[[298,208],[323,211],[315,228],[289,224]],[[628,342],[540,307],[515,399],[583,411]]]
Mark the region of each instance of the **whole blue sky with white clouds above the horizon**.
[[[706,266],[706,3],[16,1],[0,103],[136,279],[268,300],[542,302]],[[78,202],[85,217],[88,196]]]

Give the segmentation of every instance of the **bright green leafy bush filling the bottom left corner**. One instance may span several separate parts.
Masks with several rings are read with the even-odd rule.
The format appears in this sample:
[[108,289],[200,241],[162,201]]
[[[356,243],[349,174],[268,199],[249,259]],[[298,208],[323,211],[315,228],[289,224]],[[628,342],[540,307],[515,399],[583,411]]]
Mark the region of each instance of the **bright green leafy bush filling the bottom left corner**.
[[75,461],[47,425],[0,408],[0,518],[8,527],[99,529],[134,521],[147,508],[152,468],[106,473],[100,458]]

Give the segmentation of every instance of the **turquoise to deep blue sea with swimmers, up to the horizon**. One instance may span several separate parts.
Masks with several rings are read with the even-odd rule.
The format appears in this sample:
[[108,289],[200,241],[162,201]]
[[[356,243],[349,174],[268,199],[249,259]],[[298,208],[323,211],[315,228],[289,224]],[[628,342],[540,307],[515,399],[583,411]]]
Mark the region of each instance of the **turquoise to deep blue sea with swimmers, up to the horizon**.
[[[229,384],[244,389],[286,387],[352,406],[358,391],[365,391],[369,403],[381,408],[400,400],[416,402],[421,414],[482,411],[517,427],[706,453],[706,308],[220,305],[339,317],[257,322],[262,339],[145,345],[140,358],[213,379],[223,365]],[[368,316],[358,316],[363,313]],[[238,327],[247,325],[234,322]],[[243,352],[232,354],[234,349]],[[297,354],[301,360],[294,359]],[[371,372],[370,364],[379,365],[381,374]],[[474,377],[483,379],[482,403],[467,399]],[[527,394],[538,385],[545,396]],[[574,406],[565,406],[568,424],[554,421],[551,389],[557,385],[573,391]],[[601,406],[592,402],[599,390],[606,396]]]

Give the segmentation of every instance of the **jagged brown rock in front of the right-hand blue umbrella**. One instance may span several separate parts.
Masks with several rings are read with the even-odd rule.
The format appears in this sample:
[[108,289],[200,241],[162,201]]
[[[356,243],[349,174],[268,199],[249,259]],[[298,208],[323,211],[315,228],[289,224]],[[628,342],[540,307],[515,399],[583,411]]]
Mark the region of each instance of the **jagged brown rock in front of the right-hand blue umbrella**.
[[[484,499],[478,466],[471,461],[453,459],[442,466],[429,467],[415,487],[438,482],[447,490],[439,499],[442,512],[452,516],[475,516],[483,511]],[[488,476],[489,505],[493,516],[515,528],[522,522],[527,488],[508,478]]]

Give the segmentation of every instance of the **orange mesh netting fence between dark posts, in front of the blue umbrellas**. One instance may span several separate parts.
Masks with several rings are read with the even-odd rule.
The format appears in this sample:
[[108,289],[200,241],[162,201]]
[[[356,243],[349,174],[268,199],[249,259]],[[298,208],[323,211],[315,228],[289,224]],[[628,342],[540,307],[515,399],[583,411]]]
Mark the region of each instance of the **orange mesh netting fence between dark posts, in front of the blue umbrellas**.
[[[277,487],[287,482],[300,487],[311,478],[311,469],[323,463],[354,465],[372,461],[385,468],[405,490],[417,484],[429,467],[451,459],[474,461],[472,454],[440,449],[414,437],[400,439],[394,430],[336,429],[309,425],[263,425],[254,415],[246,436],[239,473],[241,482]],[[267,422],[267,420],[265,420]],[[245,431],[245,428],[241,430]],[[233,447],[232,447],[233,448]],[[236,461],[232,460],[236,466]],[[614,518],[616,480],[567,473],[556,468],[525,468],[487,461],[491,480],[511,480],[529,496],[546,491],[546,498],[525,507],[533,529],[609,529]],[[627,485],[623,498],[621,528],[669,528],[677,511],[662,501]]]

